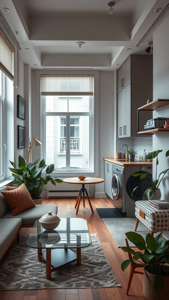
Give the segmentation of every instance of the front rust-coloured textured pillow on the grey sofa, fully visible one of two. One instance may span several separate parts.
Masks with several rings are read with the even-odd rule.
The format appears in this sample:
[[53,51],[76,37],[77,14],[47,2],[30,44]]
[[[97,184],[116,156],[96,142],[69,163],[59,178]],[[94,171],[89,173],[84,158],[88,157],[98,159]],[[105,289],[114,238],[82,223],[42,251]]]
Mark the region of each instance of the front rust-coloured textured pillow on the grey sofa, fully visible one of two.
[[16,216],[28,208],[36,206],[24,183],[13,190],[3,190],[1,193],[11,208],[13,216]]

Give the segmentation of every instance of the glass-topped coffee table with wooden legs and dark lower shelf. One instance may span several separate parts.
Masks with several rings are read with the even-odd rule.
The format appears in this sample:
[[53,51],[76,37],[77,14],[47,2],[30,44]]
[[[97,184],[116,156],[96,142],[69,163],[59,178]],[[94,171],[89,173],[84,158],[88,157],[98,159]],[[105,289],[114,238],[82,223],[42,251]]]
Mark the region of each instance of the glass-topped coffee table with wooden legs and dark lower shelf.
[[[92,243],[88,224],[82,218],[60,218],[54,230],[45,230],[37,220],[26,241],[27,246],[38,249],[38,261],[46,262],[46,278],[61,266],[77,260],[81,265],[81,248]],[[70,250],[76,248],[76,253]],[[46,249],[42,252],[42,249]]]

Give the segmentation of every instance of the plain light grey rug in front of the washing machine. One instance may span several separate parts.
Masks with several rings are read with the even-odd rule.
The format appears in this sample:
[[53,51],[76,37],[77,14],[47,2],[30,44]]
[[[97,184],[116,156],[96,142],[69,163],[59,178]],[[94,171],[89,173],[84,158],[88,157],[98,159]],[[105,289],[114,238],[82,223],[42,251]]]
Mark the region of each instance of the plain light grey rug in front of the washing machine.
[[[102,220],[118,247],[126,247],[125,232],[134,231],[136,218],[102,218]],[[142,222],[139,222],[137,233],[141,234],[143,238],[145,238],[149,232],[149,229]],[[128,243],[130,247],[135,247],[131,241],[128,241]]]

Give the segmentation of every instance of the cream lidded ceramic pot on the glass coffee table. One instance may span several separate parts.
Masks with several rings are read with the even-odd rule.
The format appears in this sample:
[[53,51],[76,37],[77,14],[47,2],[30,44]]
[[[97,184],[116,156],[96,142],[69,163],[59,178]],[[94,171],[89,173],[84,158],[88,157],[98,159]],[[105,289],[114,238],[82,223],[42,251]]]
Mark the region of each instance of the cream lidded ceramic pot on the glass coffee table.
[[39,219],[39,223],[44,229],[53,230],[59,225],[60,218],[56,214],[52,214],[52,211],[48,211]]

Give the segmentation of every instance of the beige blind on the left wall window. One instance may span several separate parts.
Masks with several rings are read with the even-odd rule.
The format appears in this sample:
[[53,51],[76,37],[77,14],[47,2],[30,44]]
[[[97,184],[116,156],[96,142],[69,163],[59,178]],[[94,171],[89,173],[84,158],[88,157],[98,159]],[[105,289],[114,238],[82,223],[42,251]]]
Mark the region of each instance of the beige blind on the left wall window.
[[14,47],[0,29],[0,69],[11,80],[14,79]]

